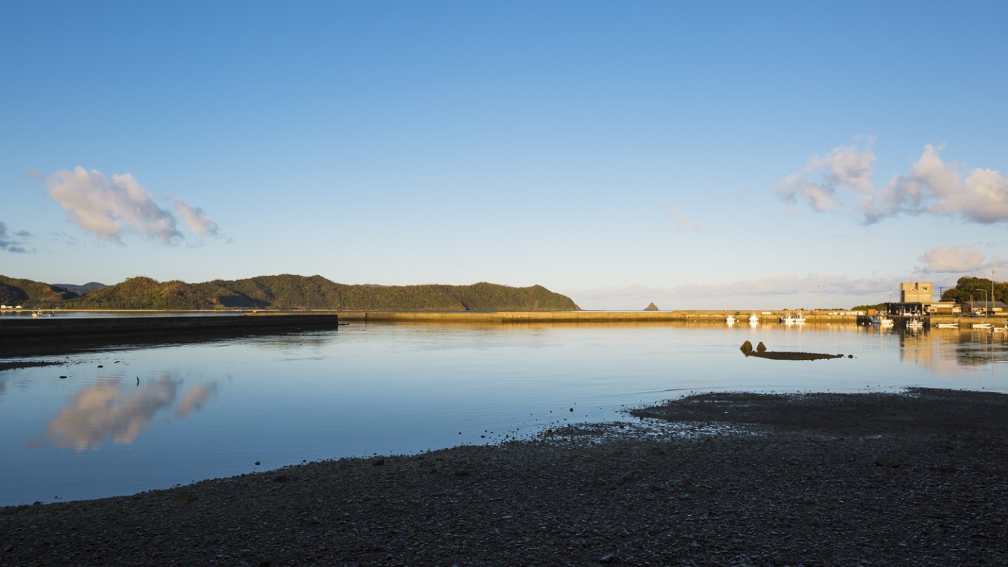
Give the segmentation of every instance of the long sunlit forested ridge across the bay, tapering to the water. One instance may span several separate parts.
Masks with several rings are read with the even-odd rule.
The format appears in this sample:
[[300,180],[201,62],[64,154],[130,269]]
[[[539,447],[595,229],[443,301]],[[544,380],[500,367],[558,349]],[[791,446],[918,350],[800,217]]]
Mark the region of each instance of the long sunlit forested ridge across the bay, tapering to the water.
[[[7,278],[0,279],[0,282]],[[27,281],[27,280],[13,280]],[[34,282],[32,282],[34,284]],[[38,286],[45,286],[39,284]],[[0,288],[2,293],[2,288]],[[331,309],[360,311],[578,311],[541,286],[348,286],[321,275],[263,275],[203,284],[131,277],[83,296],[25,294],[25,307],[62,309]]]

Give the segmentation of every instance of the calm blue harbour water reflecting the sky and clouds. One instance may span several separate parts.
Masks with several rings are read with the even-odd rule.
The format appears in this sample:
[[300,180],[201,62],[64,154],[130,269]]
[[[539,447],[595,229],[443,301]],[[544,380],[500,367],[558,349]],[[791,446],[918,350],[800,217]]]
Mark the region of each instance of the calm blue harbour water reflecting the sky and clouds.
[[[776,324],[353,324],[72,355],[66,366],[0,372],[0,505],[493,443],[553,425],[627,420],[621,409],[699,391],[1008,391],[1005,335]],[[746,358],[745,340],[854,358]]]

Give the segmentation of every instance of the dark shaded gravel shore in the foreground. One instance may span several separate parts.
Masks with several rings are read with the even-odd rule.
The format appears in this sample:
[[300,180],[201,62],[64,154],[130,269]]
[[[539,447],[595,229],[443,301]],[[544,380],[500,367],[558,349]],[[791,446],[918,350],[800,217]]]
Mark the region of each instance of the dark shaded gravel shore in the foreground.
[[534,441],[0,508],[0,564],[1008,565],[1006,410],[702,394]]

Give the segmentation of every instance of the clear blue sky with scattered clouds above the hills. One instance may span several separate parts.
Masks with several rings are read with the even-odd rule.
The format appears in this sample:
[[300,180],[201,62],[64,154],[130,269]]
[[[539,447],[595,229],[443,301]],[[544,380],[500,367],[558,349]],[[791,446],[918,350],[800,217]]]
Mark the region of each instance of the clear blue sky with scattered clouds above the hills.
[[5,2],[0,274],[542,285],[585,309],[1008,278],[1005,2]]

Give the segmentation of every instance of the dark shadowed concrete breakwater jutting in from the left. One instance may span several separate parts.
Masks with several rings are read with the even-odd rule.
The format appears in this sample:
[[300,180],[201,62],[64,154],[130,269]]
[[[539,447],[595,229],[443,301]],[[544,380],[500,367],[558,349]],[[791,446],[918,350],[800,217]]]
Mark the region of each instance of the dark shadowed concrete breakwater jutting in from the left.
[[334,314],[245,314],[166,317],[40,317],[0,321],[0,355],[57,352],[96,343],[192,340],[335,329]]

